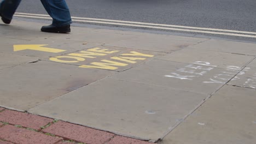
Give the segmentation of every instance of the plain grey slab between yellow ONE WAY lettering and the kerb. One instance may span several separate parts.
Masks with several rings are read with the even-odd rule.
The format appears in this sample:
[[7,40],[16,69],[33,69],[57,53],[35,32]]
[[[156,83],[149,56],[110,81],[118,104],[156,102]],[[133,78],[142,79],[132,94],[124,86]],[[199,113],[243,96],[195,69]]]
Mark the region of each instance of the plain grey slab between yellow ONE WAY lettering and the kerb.
[[162,35],[155,35],[155,37],[143,35],[129,40],[115,41],[106,45],[138,50],[172,52],[197,43],[195,41],[173,40],[171,37],[162,37]]

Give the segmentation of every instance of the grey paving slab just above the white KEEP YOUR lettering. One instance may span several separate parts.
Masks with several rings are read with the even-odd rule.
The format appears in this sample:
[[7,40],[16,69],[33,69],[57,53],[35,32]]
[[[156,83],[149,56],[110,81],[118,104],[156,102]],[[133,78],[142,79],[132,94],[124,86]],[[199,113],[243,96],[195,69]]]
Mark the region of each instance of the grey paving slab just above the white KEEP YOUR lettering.
[[253,58],[253,56],[188,47],[186,49],[172,52],[166,56],[160,57],[159,59],[190,64],[193,64],[194,62],[210,62],[213,67],[226,69],[226,67],[229,66],[242,68]]

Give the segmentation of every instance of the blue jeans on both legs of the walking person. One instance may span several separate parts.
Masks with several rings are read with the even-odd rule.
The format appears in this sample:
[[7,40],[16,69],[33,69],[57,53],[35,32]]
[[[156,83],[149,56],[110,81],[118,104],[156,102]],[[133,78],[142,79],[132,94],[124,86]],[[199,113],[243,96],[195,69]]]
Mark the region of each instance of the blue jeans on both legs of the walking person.
[[[72,23],[71,15],[65,0],[40,0],[47,13],[53,18],[53,26],[66,26]],[[21,0],[3,0],[0,13],[5,19],[11,20]]]

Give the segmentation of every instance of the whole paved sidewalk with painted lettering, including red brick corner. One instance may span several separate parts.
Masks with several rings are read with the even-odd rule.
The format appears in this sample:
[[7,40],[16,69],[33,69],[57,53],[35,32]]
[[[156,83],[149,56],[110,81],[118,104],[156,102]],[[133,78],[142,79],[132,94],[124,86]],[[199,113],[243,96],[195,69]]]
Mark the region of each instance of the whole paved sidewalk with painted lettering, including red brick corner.
[[255,143],[256,44],[0,25],[0,143]]

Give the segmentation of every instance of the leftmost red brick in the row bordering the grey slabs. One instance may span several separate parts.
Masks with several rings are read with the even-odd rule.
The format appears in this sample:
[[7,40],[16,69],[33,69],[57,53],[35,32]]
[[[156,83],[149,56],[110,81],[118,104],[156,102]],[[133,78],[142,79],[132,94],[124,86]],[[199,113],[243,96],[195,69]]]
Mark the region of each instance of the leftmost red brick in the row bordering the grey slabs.
[[0,121],[39,130],[40,127],[47,125],[49,122],[53,122],[53,119],[40,117],[25,112],[4,110],[0,112]]

